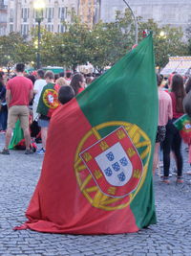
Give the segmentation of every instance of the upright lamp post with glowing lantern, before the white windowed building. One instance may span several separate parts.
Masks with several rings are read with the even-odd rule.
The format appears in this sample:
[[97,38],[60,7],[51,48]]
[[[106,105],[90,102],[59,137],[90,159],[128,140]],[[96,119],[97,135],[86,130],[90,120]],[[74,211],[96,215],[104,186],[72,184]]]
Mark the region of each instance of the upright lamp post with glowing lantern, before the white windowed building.
[[37,69],[40,68],[40,23],[43,20],[43,9],[45,8],[45,2],[43,0],[35,0],[33,1],[33,9],[36,12],[36,22],[38,23],[38,43],[37,43]]

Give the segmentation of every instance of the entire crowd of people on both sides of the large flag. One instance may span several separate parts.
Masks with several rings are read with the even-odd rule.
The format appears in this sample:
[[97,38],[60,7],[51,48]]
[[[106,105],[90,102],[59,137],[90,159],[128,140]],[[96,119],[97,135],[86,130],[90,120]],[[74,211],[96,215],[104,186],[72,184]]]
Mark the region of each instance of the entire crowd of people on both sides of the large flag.
[[[18,63],[15,76],[7,79],[0,72],[0,132],[6,132],[5,147],[2,154],[10,154],[12,129],[17,120],[23,129],[26,154],[32,153],[32,136],[40,137],[42,148],[36,153],[44,154],[50,120],[53,111],[68,103],[78,93],[94,81],[93,76],[87,78],[81,74],[72,74],[70,70],[54,75],[52,71],[37,70],[32,75],[25,74],[25,65]],[[183,78],[172,74],[167,80],[157,74],[159,88],[159,124],[154,152],[153,174],[159,168],[159,151],[162,151],[163,175],[161,181],[169,184],[170,160],[175,159],[177,165],[177,183],[183,182],[182,151],[180,130],[174,122],[181,116],[191,117],[191,103],[184,103],[186,95],[191,94],[191,78]],[[190,96],[191,97],[191,96]],[[191,99],[191,98],[190,98]],[[30,106],[30,107],[29,107]],[[30,110],[29,110],[30,108]],[[32,126],[30,126],[32,123]],[[37,132],[32,132],[36,128]],[[34,135],[32,135],[34,133]],[[189,163],[191,165],[191,138],[188,142]],[[188,172],[187,175],[191,175]]]

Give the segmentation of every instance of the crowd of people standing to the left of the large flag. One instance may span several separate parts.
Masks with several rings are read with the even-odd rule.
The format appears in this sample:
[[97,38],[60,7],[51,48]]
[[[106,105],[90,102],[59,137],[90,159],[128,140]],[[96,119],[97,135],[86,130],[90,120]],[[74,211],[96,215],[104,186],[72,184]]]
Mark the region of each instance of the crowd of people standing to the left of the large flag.
[[[81,73],[53,74],[53,71],[37,70],[31,75],[25,73],[23,63],[16,64],[15,75],[7,79],[0,73],[0,132],[6,133],[2,154],[10,154],[12,129],[15,125],[23,129],[26,154],[32,153],[32,136],[40,137],[42,148],[36,153],[46,151],[47,132],[53,111],[66,104],[74,96],[94,81],[91,75]],[[91,81],[91,82],[90,82]],[[34,131],[36,130],[36,132]],[[17,129],[14,129],[16,132]],[[15,138],[16,136],[14,136]],[[15,145],[16,146],[16,145]]]

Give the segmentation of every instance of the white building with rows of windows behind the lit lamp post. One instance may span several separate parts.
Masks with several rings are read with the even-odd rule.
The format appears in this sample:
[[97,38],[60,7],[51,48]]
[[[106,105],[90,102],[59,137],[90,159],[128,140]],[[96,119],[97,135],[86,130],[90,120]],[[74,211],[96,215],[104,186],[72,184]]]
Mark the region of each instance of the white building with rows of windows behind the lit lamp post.
[[[36,12],[32,0],[9,0],[8,1],[8,26],[7,34],[19,32],[29,35],[33,27],[37,25]],[[44,0],[42,26],[48,31],[57,33],[64,32],[63,21],[71,20],[71,12],[77,12],[76,0]]]

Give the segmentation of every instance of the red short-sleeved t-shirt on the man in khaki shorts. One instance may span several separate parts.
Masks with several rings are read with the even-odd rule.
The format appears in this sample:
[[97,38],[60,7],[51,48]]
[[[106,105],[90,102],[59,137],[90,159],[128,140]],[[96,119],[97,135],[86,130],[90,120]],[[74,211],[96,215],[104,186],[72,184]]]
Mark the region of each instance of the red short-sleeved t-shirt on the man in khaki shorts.
[[12,105],[29,105],[32,88],[32,81],[25,77],[15,77],[8,81],[7,90],[11,90],[10,107]]

